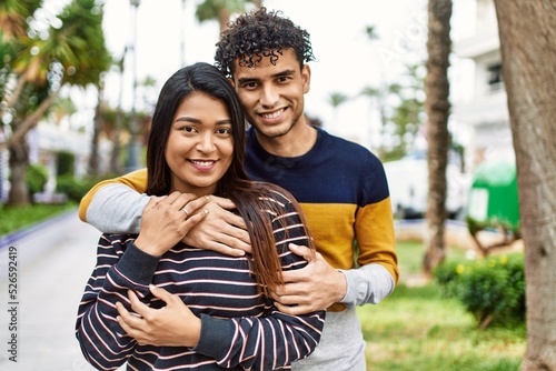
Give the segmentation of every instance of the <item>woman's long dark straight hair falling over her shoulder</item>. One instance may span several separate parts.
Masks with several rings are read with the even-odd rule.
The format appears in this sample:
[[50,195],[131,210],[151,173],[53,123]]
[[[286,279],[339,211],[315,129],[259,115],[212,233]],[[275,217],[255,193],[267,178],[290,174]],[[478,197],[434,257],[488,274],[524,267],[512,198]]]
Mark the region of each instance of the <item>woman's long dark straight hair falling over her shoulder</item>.
[[[229,198],[237,207],[247,224],[252,249],[252,270],[259,290],[264,294],[284,284],[281,264],[276,250],[276,241],[269,214],[282,210],[268,197],[274,192],[286,195],[304,221],[302,212],[294,197],[286,190],[269,183],[250,181],[244,169],[245,156],[245,114],[239,98],[231,83],[218,69],[209,63],[195,63],[183,67],[166,81],[155,109],[152,127],[147,147],[147,194],[163,195],[170,192],[171,170],[165,158],[165,150],[179,104],[195,92],[202,92],[220,99],[229,110],[232,123],[234,157],[231,164],[218,181],[216,195]],[[309,237],[309,231],[306,230]],[[312,240],[308,239],[312,249]]]

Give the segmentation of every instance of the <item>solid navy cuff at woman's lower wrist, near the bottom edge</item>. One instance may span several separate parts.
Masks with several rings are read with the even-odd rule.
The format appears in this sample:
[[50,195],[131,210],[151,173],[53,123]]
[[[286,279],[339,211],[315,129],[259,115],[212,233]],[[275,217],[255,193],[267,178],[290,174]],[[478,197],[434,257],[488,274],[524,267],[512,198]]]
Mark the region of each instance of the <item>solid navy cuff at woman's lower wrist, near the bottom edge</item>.
[[236,324],[231,320],[200,314],[201,334],[193,350],[200,354],[214,358],[217,362],[224,360],[230,348],[229,339],[234,339]]

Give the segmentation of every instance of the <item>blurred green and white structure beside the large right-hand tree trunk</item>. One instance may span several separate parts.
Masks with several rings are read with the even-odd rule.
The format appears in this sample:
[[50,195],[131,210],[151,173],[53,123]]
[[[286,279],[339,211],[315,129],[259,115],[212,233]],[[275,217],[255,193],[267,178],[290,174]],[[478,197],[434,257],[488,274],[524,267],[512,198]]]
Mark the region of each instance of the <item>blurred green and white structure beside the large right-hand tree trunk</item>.
[[519,225],[515,163],[486,162],[477,167],[469,189],[467,217],[480,223]]

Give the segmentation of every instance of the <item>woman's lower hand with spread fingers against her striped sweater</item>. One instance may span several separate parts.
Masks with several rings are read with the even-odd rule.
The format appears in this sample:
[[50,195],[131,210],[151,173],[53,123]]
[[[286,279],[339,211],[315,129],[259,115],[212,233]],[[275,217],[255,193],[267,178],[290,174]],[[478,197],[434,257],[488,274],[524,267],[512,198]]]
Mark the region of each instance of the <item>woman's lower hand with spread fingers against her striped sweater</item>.
[[123,331],[141,345],[195,347],[201,333],[201,320],[197,318],[181,299],[162,288],[149,287],[150,292],[166,307],[152,309],[139,301],[133,291],[128,292],[131,308],[138,315],[130,313],[118,302],[118,323]]

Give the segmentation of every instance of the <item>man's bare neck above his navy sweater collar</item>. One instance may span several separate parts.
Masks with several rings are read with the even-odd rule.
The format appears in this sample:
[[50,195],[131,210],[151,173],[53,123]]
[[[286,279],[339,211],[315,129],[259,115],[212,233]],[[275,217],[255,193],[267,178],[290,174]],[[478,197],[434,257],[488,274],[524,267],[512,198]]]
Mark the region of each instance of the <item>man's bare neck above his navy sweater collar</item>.
[[317,141],[317,130],[298,122],[286,136],[268,138],[255,130],[257,140],[268,153],[280,157],[299,157],[309,152]]

